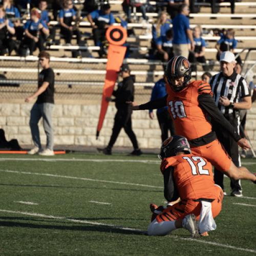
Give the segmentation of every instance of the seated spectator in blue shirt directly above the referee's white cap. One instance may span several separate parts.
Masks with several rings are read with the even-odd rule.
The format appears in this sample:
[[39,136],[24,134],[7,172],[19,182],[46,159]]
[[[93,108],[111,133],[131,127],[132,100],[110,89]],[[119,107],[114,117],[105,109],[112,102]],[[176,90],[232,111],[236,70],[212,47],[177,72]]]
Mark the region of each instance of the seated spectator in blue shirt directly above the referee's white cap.
[[[226,34],[221,37],[219,41],[217,41],[217,44],[215,48],[217,49],[217,59],[220,60],[220,56],[222,52],[230,51],[234,52],[234,49],[237,48],[238,41],[234,39],[234,30],[228,29],[226,31]],[[237,62],[242,63],[241,58],[236,59]]]

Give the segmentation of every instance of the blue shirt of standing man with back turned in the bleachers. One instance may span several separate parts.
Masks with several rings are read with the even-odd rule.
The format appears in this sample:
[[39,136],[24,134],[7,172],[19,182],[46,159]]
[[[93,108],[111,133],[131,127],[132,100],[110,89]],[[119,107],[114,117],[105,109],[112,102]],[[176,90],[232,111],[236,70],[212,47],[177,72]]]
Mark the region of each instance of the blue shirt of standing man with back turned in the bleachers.
[[173,19],[173,43],[176,45],[189,44],[187,36],[187,29],[189,29],[189,19],[183,14],[178,14]]

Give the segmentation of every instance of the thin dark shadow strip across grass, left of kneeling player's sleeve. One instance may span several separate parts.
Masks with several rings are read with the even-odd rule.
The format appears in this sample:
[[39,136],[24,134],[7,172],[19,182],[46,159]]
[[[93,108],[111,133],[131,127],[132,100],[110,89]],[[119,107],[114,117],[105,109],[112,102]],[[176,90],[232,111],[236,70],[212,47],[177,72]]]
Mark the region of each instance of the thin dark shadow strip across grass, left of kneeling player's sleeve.
[[20,187],[52,187],[52,188],[72,188],[72,189],[105,189],[105,190],[125,190],[125,191],[143,191],[153,193],[163,193],[159,190],[145,190],[145,189],[130,189],[130,188],[105,188],[105,187],[76,187],[76,186],[58,186],[58,185],[38,185],[38,184],[4,184],[0,183],[0,186],[20,186]]

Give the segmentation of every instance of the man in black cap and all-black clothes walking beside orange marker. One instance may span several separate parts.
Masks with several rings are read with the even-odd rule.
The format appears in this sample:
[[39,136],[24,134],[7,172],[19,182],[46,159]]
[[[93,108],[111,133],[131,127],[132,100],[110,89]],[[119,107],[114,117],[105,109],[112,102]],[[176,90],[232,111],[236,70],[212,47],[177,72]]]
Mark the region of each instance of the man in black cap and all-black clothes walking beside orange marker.
[[134,100],[135,78],[134,76],[131,76],[130,72],[131,71],[129,69],[129,66],[123,64],[119,71],[123,80],[122,82],[118,83],[117,90],[113,92],[113,96],[115,96],[115,99],[106,98],[106,100],[108,101],[115,102],[117,113],[115,115],[113,131],[108,146],[103,149],[98,148],[98,151],[102,151],[105,155],[112,154],[112,147],[115,144],[116,139],[122,128],[132,141],[134,151],[131,153],[131,155],[139,156],[142,154],[138,146],[136,135],[132,130],[132,108],[126,103],[126,101]]

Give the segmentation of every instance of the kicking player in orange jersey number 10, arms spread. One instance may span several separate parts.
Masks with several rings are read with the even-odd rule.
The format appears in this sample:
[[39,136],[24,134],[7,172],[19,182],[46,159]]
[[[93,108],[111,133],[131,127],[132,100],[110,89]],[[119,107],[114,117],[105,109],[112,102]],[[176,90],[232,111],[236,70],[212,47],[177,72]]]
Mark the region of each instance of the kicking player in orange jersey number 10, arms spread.
[[189,61],[183,56],[169,60],[165,70],[167,95],[161,99],[145,104],[133,105],[133,110],[158,109],[167,105],[173,118],[177,135],[188,139],[191,151],[206,158],[217,169],[234,180],[245,179],[256,182],[256,176],[245,167],[237,167],[218,141],[209,117],[226,129],[230,135],[244,148],[250,146],[241,138],[232,125],[223,117],[217,108],[208,83],[193,81]]

